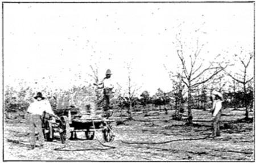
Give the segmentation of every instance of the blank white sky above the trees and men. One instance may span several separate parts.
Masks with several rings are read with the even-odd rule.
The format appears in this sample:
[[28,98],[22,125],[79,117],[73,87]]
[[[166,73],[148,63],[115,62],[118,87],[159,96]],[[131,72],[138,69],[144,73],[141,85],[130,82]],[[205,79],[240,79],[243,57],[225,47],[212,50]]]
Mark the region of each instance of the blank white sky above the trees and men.
[[187,54],[204,44],[204,66],[241,47],[253,52],[253,3],[5,3],[3,11],[4,83],[14,87],[86,85],[97,65],[101,79],[109,68],[127,88],[130,64],[132,83],[153,95],[171,91],[168,71],[180,71],[176,37]]

